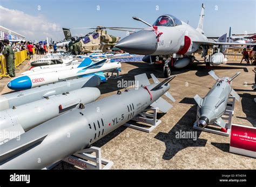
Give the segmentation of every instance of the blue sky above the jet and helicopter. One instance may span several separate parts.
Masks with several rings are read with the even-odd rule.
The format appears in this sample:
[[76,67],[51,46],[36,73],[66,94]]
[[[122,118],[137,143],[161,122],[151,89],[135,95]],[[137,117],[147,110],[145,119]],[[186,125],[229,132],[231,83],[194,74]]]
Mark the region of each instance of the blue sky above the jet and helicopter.
[[[53,40],[63,39],[64,34],[57,32],[62,27],[146,27],[143,23],[133,20],[132,16],[153,23],[158,16],[165,13],[170,13],[185,22],[189,21],[188,24],[197,27],[202,3],[205,4],[204,31],[207,36],[222,35],[228,32],[230,26],[232,33],[256,31],[256,0],[245,0],[242,3],[235,0],[0,0],[0,25],[25,35],[28,40],[46,36],[52,37]],[[9,13],[13,14],[12,18],[6,17]],[[85,35],[89,31],[73,29],[71,34]],[[126,35],[120,31],[108,32],[120,37]]]

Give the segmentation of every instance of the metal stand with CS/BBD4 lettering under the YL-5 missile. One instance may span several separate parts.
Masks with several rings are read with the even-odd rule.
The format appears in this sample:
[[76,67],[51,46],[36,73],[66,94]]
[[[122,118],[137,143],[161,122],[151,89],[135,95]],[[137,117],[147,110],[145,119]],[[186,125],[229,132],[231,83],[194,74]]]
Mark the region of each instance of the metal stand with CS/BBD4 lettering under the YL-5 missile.
[[[95,153],[92,155],[91,153]],[[99,147],[90,147],[86,149],[79,150],[79,152],[66,157],[62,161],[72,164],[78,169],[110,169],[113,166],[113,162],[102,159],[101,149]],[[50,167],[44,169],[52,169],[61,161],[52,164]]]

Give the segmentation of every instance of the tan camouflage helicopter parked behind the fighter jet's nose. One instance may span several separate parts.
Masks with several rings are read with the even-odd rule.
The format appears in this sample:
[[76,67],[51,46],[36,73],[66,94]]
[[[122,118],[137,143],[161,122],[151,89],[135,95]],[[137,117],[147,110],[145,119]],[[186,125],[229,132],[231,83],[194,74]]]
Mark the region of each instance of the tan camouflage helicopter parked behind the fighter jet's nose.
[[[114,35],[107,34],[106,29],[109,30],[118,30],[118,31],[128,31],[124,30],[125,28],[130,27],[103,27],[97,26],[93,27],[77,27],[77,28],[89,28],[93,29],[93,32],[87,33],[84,37],[79,37],[75,39],[71,37],[69,29],[63,29],[63,32],[66,36],[65,32],[69,32],[71,37],[71,42],[69,43],[69,51],[73,54],[85,54],[90,52],[111,52],[112,48],[117,44],[120,40],[120,37],[115,37]],[[140,28],[131,28],[131,29],[140,29]]]

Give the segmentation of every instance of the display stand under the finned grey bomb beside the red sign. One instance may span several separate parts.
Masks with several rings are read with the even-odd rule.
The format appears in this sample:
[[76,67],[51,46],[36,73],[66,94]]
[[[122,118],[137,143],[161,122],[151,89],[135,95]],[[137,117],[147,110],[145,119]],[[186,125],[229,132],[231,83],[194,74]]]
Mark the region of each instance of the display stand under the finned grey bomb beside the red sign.
[[231,129],[232,116],[234,114],[234,103],[235,103],[235,98],[234,97],[229,97],[228,102],[227,102],[227,106],[226,106],[226,110],[225,110],[223,116],[221,116],[221,118],[223,120],[227,121],[226,126],[225,126],[227,132],[221,131],[220,126],[218,126],[216,124],[207,125],[205,128],[199,127],[197,125],[198,120],[199,120],[199,106],[197,107],[197,120],[194,122],[193,128],[196,129],[196,130],[200,130],[200,131],[205,131],[205,132],[209,132],[209,133],[229,136],[230,131],[231,131],[230,129]]

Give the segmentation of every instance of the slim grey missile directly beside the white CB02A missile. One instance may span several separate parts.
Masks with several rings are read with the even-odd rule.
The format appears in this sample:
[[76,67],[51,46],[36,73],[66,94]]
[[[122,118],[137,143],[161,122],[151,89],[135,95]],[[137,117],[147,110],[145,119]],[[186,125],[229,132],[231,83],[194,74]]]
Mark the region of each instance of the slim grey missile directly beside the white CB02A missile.
[[97,87],[99,84],[100,78],[92,75],[4,94],[0,96],[0,111],[79,88]]

